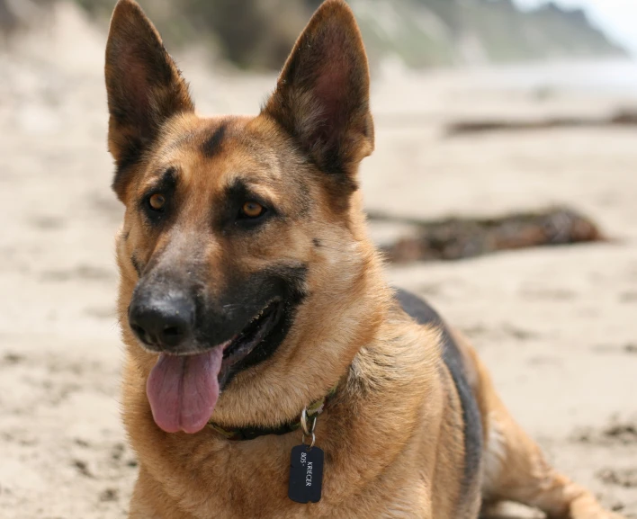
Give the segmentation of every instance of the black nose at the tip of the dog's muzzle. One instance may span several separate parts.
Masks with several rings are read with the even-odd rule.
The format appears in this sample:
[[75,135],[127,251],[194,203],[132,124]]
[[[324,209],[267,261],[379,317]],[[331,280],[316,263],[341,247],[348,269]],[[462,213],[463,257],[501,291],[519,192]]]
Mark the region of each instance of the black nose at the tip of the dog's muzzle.
[[129,323],[139,340],[160,350],[175,350],[193,331],[194,302],[185,295],[134,297]]

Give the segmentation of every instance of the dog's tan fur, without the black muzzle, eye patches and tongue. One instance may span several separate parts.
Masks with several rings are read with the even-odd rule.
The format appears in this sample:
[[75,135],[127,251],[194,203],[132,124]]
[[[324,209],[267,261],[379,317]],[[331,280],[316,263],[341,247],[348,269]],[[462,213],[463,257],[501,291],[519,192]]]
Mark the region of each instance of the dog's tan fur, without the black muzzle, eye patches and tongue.
[[[335,47],[341,58],[326,61]],[[328,0],[319,9],[255,118],[198,116],[157,31],[131,0],[121,0],[113,15],[106,77],[114,186],[127,208],[117,238],[127,346],[122,405],[140,467],[130,517],[477,517],[480,491],[461,484],[462,407],[442,362],[439,331],[417,326],[397,308],[366,237],[356,174],[373,148],[369,74],[345,2]],[[142,100],[132,114],[126,112],[131,89]],[[140,120],[145,114],[148,124]],[[326,120],[332,121],[327,128]],[[202,153],[222,126],[219,148]],[[181,174],[178,210],[170,225],[153,228],[139,200],[169,166]],[[204,208],[218,205],[238,177],[285,218],[249,237],[211,230]],[[213,295],[227,288],[231,273],[258,272],[274,262],[310,265],[310,295],[289,335],[271,358],[238,373],[212,417],[225,427],[281,425],[338,384],[318,418],[318,445],[326,452],[318,504],[287,497],[290,452],[301,434],[229,442],[211,429],[166,434],[155,425],[145,387],[157,355],[139,346],[127,319],[139,281],[133,257],[184,275],[205,269]],[[483,419],[485,500],[514,499],[552,517],[612,517],[543,461],[471,346],[456,339]]]

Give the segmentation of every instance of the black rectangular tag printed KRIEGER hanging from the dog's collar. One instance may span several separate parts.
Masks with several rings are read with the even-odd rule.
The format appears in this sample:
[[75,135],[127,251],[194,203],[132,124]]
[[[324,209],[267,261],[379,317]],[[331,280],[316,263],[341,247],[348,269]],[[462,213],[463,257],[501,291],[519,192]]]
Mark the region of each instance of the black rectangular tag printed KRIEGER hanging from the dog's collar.
[[318,503],[323,483],[323,459],[318,447],[297,445],[292,448],[288,497],[297,503]]

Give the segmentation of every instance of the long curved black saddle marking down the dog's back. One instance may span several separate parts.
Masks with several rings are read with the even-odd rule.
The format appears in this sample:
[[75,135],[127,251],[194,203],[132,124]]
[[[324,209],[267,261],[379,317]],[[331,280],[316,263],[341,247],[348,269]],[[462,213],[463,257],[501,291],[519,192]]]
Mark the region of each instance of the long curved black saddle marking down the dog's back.
[[[464,371],[462,353],[453,341],[444,321],[424,300],[408,291],[398,290],[396,299],[402,309],[420,325],[439,327],[442,331],[443,360],[450,371],[458,396],[462,403],[462,421],[464,423],[464,478],[461,497],[466,497],[480,476],[482,455],[482,421],[480,409],[471,391]],[[462,502],[462,499],[461,499]]]

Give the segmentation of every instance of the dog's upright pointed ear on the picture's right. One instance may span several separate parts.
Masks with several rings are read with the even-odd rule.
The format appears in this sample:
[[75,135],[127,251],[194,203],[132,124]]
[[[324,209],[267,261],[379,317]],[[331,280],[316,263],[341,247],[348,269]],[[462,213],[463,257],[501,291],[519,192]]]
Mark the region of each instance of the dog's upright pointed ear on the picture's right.
[[296,42],[262,113],[294,137],[326,173],[354,182],[358,163],[372,153],[370,77],[354,13],[327,0]]

